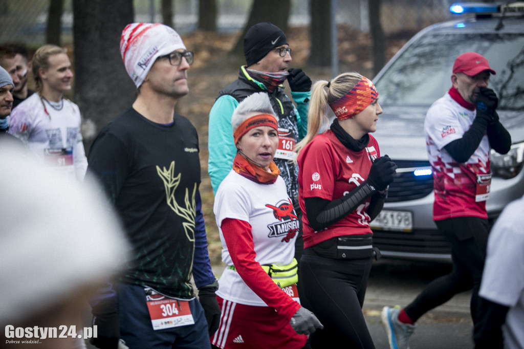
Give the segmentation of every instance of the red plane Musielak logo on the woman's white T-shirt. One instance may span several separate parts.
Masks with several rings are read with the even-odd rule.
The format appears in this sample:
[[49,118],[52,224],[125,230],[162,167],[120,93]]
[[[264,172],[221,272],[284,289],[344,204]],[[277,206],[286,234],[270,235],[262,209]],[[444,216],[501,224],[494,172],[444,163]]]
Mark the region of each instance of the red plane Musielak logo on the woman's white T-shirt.
[[299,230],[298,217],[293,210],[291,200],[279,201],[276,205],[266,204],[267,208],[273,210],[273,214],[278,222],[269,224],[268,237],[281,237],[282,242],[289,242]]

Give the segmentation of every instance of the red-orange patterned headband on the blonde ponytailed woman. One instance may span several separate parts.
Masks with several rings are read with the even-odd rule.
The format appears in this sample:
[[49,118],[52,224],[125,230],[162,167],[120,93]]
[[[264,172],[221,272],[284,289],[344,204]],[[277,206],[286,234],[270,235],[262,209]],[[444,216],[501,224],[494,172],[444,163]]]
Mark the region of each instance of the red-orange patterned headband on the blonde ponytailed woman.
[[362,112],[377,98],[378,92],[373,82],[362,77],[350,92],[331,103],[330,107],[339,120],[344,120]]

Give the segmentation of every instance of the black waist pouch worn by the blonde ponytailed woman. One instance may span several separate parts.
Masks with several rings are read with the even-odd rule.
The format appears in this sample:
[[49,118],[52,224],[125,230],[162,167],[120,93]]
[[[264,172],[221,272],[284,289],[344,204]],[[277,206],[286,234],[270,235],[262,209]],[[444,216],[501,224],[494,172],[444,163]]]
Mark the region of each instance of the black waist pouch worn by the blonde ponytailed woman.
[[374,256],[371,234],[335,236],[309,249],[318,256],[334,259],[363,259]]

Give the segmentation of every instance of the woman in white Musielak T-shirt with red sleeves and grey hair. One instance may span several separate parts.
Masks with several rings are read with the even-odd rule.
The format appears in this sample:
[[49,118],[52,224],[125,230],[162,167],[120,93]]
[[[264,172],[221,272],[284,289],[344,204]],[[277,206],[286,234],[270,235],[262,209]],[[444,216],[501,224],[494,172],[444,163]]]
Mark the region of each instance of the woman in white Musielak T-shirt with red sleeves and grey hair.
[[278,124],[266,93],[236,107],[238,149],[213,211],[227,265],[216,291],[221,308],[216,348],[302,348],[322,324],[299,302],[294,241],[299,221],[272,161]]

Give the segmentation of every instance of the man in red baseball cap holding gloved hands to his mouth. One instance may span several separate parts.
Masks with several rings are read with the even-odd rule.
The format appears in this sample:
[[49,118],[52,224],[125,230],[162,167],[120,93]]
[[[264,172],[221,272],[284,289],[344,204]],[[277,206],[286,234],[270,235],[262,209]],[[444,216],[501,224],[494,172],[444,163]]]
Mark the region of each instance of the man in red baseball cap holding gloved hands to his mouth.
[[491,74],[495,70],[481,54],[461,54],[453,64],[452,87],[426,114],[424,134],[435,193],[433,221],[450,242],[453,269],[430,282],[407,307],[384,307],[381,317],[391,348],[406,349],[415,322],[459,292],[473,289],[473,323],[483,321],[476,310],[489,232],[489,154],[492,148],[506,154],[511,146],[496,112],[497,95],[487,87]]

